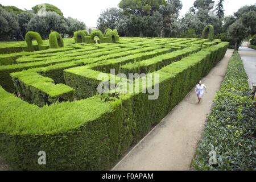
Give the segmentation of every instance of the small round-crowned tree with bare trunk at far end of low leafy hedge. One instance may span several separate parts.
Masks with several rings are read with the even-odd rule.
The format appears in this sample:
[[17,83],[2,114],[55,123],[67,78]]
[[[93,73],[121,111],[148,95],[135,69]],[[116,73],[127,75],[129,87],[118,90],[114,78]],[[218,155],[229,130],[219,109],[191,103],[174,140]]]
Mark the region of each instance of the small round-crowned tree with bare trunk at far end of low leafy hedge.
[[236,42],[235,50],[238,50],[242,40],[245,38],[246,28],[243,26],[242,20],[238,19],[228,30],[229,36]]

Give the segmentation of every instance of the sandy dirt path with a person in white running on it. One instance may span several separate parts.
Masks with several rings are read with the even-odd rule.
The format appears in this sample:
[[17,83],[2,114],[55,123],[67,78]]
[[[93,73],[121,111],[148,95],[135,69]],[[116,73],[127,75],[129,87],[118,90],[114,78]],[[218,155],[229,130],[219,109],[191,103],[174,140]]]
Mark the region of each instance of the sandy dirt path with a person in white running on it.
[[208,88],[201,104],[194,89],[113,170],[189,170],[197,143],[204,129],[206,115],[220,89],[233,51],[203,78]]

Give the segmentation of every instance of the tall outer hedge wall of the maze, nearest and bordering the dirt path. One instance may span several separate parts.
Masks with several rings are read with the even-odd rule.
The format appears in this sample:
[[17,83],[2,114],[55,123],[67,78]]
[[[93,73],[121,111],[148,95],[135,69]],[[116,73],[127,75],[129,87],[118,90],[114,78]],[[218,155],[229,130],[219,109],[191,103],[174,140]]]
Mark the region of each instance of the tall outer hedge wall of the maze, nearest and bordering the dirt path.
[[[148,100],[147,94],[109,102],[94,96],[39,109],[0,87],[0,156],[12,169],[110,169],[207,75],[227,47],[220,43],[156,72],[158,100]],[[46,166],[38,165],[42,150]]]

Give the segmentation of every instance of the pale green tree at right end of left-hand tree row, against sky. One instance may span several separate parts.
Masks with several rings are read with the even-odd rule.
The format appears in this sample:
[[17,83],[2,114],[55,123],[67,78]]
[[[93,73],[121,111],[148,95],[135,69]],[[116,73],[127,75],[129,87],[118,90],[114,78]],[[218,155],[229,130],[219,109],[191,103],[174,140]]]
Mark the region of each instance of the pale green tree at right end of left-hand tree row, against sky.
[[77,19],[68,17],[68,18],[64,18],[65,22],[66,22],[66,26],[67,26],[67,34],[73,35],[74,32],[79,31],[79,30],[85,30],[86,26],[84,22],[80,22]]

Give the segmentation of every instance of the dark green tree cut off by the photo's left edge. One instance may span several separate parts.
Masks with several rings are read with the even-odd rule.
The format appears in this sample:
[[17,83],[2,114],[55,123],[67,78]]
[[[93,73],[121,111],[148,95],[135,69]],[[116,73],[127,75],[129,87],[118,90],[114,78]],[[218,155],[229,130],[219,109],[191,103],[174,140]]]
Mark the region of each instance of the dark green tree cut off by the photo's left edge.
[[13,12],[0,7],[0,40],[12,39],[18,31],[18,18]]

